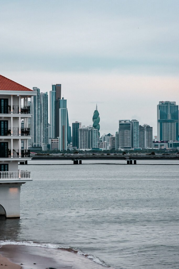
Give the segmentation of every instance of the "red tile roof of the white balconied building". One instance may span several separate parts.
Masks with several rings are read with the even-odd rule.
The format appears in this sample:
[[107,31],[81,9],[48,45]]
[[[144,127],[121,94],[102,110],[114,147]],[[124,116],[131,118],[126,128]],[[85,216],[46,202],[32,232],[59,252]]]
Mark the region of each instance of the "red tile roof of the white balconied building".
[[0,75],[0,91],[32,91],[7,77]]

